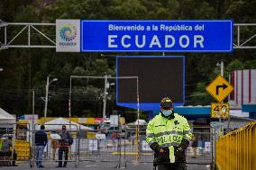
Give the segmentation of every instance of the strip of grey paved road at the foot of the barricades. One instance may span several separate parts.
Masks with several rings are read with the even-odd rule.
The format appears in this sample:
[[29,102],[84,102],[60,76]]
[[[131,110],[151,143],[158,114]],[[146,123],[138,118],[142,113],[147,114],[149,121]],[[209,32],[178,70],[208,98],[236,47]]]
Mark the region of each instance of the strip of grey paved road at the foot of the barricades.
[[[46,169],[46,170],[60,170],[60,169],[65,169],[65,170],[72,170],[72,169],[77,169],[77,170],[105,170],[105,169],[118,169],[115,167],[113,163],[101,163],[101,162],[83,162],[80,163],[77,168],[75,168],[74,163],[69,163],[68,167],[66,168],[58,168],[55,167],[57,166],[56,163],[44,163],[45,166],[44,168],[31,168],[26,164],[20,164],[19,166],[5,166],[5,167],[0,167],[0,170],[30,170],[30,169]],[[126,168],[124,165],[120,167],[121,169],[127,169],[127,170],[151,170],[152,165],[151,164],[127,164]],[[187,170],[209,170],[209,166],[206,165],[188,165]]]

